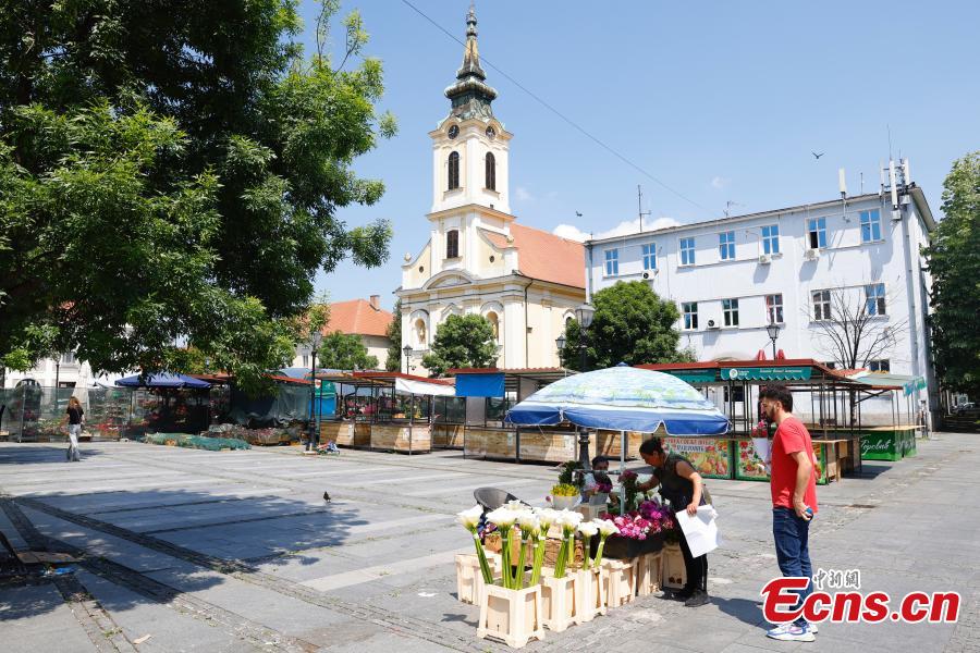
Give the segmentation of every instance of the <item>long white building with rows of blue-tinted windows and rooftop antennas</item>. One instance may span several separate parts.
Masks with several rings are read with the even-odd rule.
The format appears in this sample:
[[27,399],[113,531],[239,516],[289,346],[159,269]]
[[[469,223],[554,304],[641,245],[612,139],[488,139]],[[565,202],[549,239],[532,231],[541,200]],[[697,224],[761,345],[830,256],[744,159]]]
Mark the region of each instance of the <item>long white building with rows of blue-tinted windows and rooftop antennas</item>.
[[700,360],[771,358],[775,321],[786,358],[923,377],[939,409],[920,254],[935,222],[907,170],[880,194],[590,241],[590,292],[646,280],[676,303],[681,346]]

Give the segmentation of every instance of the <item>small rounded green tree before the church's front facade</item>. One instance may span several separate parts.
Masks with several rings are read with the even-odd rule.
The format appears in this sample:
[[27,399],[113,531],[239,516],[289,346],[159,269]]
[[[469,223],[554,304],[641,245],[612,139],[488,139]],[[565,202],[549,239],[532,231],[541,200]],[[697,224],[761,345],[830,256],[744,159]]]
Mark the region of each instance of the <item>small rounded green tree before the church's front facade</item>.
[[489,367],[497,362],[493,326],[482,316],[450,316],[439,325],[422,365],[439,377],[453,368]]

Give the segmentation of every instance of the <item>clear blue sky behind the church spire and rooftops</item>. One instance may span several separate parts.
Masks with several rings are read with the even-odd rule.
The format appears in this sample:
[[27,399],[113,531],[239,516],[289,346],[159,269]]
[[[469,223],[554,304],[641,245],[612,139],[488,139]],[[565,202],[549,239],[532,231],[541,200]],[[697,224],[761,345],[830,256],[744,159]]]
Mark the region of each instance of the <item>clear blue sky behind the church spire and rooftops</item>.
[[[411,1],[464,38],[468,0]],[[384,181],[384,198],[339,215],[350,225],[387,218],[395,234],[387,264],[345,261],[317,287],[334,300],[379,294],[390,308],[403,255],[428,237],[427,133],[449,112],[442,91],[462,47],[401,0],[343,11],[353,8],[371,35],[366,53],[384,64],[381,107],[400,131],[355,165]],[[302,0],[301,11],[313,51],[317,4]],[[487,81],[500,94],[494,114],[514,134],[511,208],[529,226],[635,230],[623,223],[637,218],[638,184],[648,227],[715,218],[727,201],[739,214],[831,199],[838,168],[850,194],[861,172],[877,192],[889,127],[893,155],[909,158],[939,215],[952,162],[980,148],[978,2],[482,0],[477,16]],[[818,161],[811,151],[825,153]]]

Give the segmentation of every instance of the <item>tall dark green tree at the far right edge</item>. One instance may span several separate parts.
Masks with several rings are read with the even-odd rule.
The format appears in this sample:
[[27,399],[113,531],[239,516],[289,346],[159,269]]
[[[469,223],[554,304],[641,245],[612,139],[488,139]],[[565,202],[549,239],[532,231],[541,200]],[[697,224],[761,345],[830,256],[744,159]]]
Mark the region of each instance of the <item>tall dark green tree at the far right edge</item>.
[[980,151],[953,164],[943,219],[926,248],[932,273],[932,345],[947,390],[980,397]]

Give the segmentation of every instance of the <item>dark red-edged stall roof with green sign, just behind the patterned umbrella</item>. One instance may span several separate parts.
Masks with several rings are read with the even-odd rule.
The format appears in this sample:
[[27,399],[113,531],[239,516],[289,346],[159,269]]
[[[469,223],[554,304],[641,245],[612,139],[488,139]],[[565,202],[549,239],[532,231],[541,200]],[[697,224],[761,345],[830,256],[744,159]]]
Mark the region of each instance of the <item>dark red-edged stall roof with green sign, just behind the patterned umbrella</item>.
[[664,362],[636,366],[673,374],[688,383],[725,383],[727,381],[800,381],[853,383],[852,379],[812,358],[781,360],[709,360],[699,362]]

